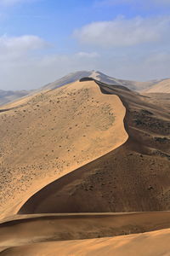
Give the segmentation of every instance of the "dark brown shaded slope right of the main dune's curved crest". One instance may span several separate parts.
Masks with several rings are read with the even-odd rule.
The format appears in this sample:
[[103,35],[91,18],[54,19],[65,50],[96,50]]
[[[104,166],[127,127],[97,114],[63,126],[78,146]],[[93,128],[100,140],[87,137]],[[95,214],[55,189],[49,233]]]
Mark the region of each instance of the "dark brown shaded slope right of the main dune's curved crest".
[[[170,209],[170,114],[167,105],[97,82],[127,109],[127,143],[31,196],[20,213],[133,212]],[[84,203],[84,201],[86,203]]]

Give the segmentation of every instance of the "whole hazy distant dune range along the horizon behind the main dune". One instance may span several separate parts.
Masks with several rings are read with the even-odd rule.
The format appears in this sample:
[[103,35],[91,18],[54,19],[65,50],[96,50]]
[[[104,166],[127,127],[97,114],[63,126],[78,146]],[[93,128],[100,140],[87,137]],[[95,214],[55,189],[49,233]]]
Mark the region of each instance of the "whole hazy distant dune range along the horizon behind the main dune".
[[82,78],[93,78],[105,84],[121,85],[127,87],[129,90],[135,90],[139,92],[170,92],[170,79],[151,80],[148,82],[138,82],[124,79],[111,78],[99,71],[78,71],[75,73],[69,73],[65,77],[54,81],[53,83],[46,84],[38,90],[0,90],[0,106],[9,102],[14,102],[20,97],[27,96],[31,93],[36,93],[42,90],[54,90],[65,84],[71,84]]

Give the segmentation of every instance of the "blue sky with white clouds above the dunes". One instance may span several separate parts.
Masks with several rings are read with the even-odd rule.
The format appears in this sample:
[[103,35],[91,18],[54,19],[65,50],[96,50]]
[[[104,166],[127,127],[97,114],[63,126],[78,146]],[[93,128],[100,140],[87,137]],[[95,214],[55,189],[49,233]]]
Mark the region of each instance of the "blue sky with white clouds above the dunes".
[[97,70],[170,77],[170,0],[0,0],[0,90]]

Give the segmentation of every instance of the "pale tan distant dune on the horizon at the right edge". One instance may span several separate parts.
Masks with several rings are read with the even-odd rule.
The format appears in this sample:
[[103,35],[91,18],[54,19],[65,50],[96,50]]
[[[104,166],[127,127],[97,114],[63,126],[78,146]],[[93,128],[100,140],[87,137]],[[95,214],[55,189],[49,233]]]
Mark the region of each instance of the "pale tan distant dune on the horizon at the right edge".
[[161,82],[153,84],[144,93],[170,93],[170,79],[163,79]]

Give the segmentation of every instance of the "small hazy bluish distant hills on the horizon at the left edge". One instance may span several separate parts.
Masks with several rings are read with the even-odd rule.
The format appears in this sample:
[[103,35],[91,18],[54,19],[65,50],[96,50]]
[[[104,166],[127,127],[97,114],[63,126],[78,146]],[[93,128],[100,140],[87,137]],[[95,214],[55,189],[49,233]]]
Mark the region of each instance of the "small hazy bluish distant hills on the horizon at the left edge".
[[0,106],[14,102],[23,96],[27,96],[29,93],[30,91],[28,90],[0,90]]

